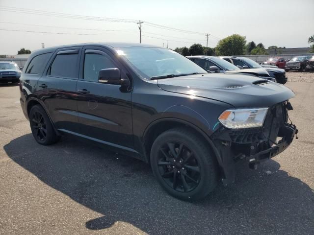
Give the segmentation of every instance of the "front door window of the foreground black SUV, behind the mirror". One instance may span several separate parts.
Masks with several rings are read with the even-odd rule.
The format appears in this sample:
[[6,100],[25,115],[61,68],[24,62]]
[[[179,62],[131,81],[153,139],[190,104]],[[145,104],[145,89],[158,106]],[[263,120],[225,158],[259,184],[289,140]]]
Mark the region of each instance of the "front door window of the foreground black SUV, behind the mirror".
[[84,59],[84,80],[98,81],[100,70],[116,68],[108,56],[101,54],[85,54]]

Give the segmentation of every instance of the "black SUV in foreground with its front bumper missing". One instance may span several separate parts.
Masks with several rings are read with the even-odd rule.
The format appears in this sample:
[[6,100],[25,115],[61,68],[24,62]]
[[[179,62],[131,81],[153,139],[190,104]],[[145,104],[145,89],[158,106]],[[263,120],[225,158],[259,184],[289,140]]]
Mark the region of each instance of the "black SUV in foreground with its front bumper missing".
[[25,68],[20,101],[38,143],[71,134],[119,149],[150,163],[160,185],[184,200],[205,197],[221,179],[234,182],[236,161],[256,168],[297,132],[288,124],[288,88],[208,73],[166,48],[44,48]]

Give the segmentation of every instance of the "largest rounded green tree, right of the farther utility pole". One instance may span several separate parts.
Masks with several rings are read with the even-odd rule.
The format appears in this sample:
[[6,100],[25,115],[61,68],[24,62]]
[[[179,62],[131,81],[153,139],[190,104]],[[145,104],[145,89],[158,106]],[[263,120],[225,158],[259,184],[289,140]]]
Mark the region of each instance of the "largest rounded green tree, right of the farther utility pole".
[[216,55],[243,55],[246,47],[246,37],[233,34],[218,42]]

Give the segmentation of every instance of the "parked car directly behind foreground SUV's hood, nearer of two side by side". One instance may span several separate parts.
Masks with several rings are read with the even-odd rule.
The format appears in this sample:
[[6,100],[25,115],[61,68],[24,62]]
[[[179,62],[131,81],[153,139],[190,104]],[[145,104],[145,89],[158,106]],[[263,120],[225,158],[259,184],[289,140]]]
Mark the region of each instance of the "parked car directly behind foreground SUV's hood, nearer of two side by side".
[[272,82],[276,82],[276,79],[270,77],[269,73],[264,69],[240,69],[233,64],[223,60],[220,57],[196,55],[187,56],[190,60],[201,66],[207,71],[221,72],[221,73],[243,73],[246,75],[253,75],[263,79],[267,79]]

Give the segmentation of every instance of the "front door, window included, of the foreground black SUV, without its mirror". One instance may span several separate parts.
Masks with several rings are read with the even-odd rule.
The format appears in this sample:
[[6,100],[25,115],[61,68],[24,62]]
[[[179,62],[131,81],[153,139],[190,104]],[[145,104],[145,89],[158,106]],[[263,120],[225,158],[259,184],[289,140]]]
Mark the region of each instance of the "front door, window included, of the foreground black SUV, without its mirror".
[[131,91],[120,85],[98,81],[102,69],[118,68],[129,79],[122,64],[102,47],[83,47],[77,83],[79,133],[112,144],[133,147]]

